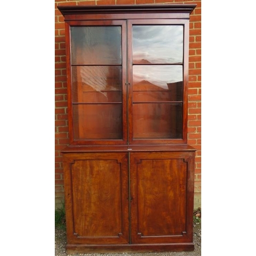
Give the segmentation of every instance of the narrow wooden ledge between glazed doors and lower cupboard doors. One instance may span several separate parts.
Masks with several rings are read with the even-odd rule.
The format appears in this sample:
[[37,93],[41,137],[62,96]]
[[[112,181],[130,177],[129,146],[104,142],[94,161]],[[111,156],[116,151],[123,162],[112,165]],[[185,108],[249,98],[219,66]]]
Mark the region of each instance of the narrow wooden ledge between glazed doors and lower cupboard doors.
[[61,153],[74,152],[150,152],[150,151],[197,151],[196,148],[187,145],[70,145],[61,151]]

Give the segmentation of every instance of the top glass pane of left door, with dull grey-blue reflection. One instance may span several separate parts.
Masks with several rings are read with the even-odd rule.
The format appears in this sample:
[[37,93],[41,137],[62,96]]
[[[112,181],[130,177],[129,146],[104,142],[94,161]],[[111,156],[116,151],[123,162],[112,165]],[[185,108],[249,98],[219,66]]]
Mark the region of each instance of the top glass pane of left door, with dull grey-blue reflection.
[[71,27],[71,65],[121,64],[121,27]]

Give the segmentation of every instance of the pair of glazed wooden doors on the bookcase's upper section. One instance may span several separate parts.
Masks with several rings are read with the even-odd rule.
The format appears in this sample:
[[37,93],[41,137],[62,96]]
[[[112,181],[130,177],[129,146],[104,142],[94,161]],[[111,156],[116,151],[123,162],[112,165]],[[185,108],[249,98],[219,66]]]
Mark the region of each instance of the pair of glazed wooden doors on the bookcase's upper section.
[[71,144],[187,142],[188,20],[67,26]]

